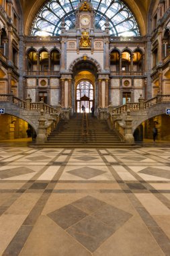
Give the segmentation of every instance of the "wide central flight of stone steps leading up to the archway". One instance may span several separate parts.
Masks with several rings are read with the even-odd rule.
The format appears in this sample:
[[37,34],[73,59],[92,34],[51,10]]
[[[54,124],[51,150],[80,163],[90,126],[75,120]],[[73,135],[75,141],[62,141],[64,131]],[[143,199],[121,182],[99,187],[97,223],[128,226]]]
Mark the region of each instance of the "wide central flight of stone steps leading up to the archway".
[[82,134],[83,114],[72,119],[61,120],[44,143],[46,148],[130,148],[120,141],[118,135],[109,129],[105,120],[98,120],[87,114],[87,135]]

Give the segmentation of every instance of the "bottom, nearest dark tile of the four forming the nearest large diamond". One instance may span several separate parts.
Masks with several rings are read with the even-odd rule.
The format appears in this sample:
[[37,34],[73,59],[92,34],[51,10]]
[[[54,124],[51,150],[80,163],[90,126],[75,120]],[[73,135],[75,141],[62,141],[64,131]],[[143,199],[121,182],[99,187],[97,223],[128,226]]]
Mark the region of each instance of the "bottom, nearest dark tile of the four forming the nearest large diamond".
[[91,253],[113,234],[112,228],[88,216],[67,230]]

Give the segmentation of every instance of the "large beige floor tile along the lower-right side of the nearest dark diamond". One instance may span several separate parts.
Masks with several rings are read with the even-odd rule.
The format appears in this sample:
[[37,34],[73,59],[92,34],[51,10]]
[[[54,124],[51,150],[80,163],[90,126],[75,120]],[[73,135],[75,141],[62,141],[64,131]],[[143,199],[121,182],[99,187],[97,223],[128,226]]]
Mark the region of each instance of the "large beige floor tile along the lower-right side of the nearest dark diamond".
[[93,256],[165,256],[142,220],[134,216],[110,237]]

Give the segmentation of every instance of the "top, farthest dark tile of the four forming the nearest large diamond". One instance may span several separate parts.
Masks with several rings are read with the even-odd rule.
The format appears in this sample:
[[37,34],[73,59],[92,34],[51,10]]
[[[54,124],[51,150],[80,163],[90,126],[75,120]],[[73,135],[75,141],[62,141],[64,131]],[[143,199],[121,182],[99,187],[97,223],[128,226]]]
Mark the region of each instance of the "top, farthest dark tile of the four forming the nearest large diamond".
[[87,195],[87,197],[83,197],[72,204],[87,214],[91,214],[92,212],[99,210],[103,205],[106,205],[105,202],[95,199],[90,195]]

